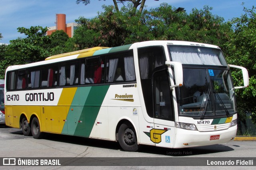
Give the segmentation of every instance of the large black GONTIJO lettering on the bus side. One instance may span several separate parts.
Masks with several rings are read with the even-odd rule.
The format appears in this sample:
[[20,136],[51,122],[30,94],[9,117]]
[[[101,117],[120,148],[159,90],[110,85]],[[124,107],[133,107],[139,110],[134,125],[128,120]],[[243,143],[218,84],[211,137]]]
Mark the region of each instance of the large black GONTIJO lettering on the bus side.
[[54,93],[26,93],[26,101],[54,101]]

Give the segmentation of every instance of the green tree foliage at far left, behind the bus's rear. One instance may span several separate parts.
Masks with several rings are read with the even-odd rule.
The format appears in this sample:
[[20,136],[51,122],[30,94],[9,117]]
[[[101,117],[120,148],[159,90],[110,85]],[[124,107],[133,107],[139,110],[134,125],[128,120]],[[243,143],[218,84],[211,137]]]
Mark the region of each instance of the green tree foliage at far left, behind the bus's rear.
[[11,40],[10,45],[0,46],[0,78],[3,79],[5,69],[9,65],[19,65],[29,62],[42,61],[50,55],[65,53],[68,35],[64,31],[53,32],[46,36],[47,27],[19,27],[18,32],[26,38]]

